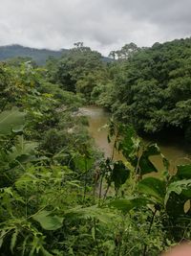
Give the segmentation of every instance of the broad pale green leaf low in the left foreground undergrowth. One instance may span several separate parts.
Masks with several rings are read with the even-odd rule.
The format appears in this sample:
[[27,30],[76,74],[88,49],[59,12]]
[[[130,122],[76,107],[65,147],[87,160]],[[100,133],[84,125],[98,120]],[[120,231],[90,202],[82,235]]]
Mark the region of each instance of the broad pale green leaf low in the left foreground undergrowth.
[[35,214],[32,219],[38,221],[40,225],[46,230],[56,230],[62,227],[64,218],[60,218],[56,215],[51,216],[52,212],[41,211]]

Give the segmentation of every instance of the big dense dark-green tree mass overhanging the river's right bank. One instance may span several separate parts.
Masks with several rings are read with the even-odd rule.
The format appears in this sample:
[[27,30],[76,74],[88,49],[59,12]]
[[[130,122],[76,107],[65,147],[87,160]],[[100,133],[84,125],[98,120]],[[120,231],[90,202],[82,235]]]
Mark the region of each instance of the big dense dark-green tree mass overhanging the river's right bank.
[[191,39],[134,47],[127,58],[123,52],[111,67],[115,85],[97,102],[108,106],[109,101],[118,120],[138,131],[179,130],[191,141]]

